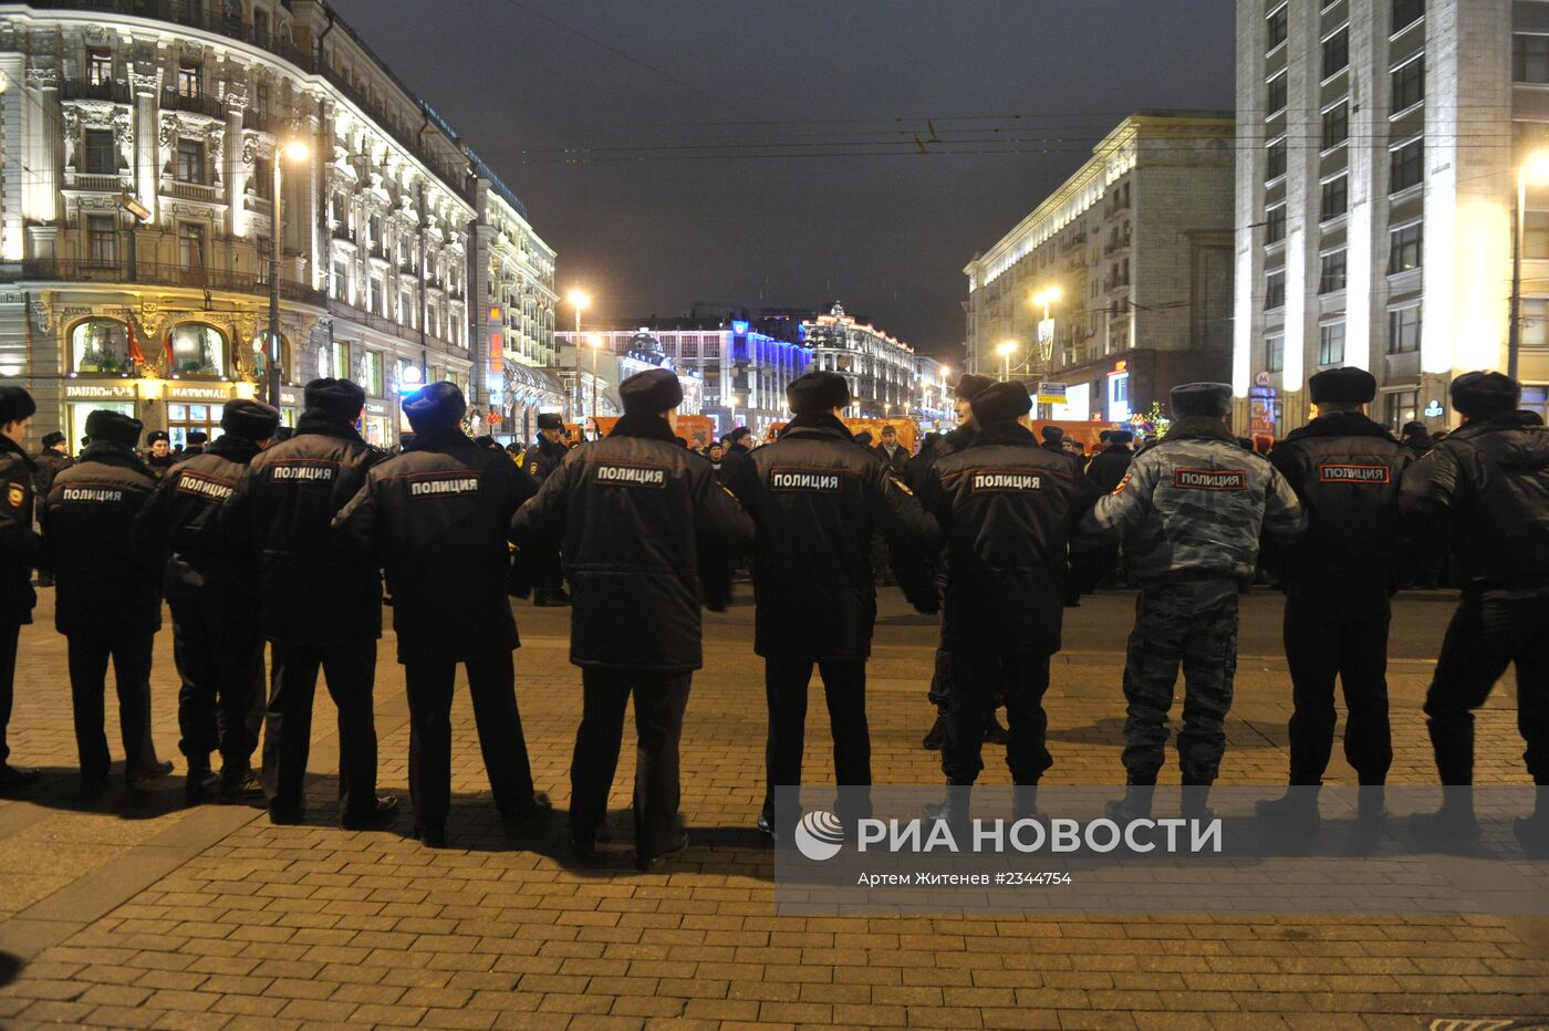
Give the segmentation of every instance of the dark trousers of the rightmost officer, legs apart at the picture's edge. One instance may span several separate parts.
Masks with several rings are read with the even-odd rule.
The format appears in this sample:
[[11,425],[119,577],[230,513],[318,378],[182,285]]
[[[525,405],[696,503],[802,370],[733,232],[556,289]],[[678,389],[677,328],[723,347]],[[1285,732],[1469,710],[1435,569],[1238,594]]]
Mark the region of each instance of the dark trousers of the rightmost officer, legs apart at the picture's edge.
[[1473,711],[1495,681],[1516,664],[1516,729],[1535,785],[1549,785],[1549,594],[1499,598],[1465,591],[1431,687],[1427,728],[1444,785],[1473,783]]

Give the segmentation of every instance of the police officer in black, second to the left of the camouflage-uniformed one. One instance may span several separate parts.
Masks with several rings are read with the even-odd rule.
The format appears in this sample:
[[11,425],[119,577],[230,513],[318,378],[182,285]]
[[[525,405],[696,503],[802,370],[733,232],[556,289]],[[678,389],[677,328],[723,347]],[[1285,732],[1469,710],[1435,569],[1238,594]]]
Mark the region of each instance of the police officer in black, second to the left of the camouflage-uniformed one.
[[[871,785],[866,659],[877,621],[874,531],[915,562],[940,546],[936,520],[881,450],[858,447],[840,421],[850,404],[844,376],[810,372],[792,381],[785,398],[795,413],[785,433],[754,450],[728,485],[757,528],[753,650],[764,656],[770,709],[768,786],[757,827],[771,836],[785,824],[784,813],[776,820],[774,788],[801,783],[813,664],[829,703],[838,783]],[[860,799],[841,791],[840,816],[864,816],[847,811],[855,805]]]

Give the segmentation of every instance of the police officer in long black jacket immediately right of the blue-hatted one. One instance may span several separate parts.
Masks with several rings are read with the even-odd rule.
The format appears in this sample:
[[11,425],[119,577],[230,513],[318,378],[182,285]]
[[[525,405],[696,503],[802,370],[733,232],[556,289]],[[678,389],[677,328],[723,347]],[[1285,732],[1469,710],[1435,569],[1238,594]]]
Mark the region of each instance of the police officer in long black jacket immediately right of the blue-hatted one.
[[[672,432],[683,389],[668,368],[618,387],[624,415],[584,444],[511,522],[524,548],[564,539],[575,585],[570,661],[582,715],[570,766],[570,833],[592,855],[607,816],[624,709],[635,700],[635,862],[654,868],[688,845],[677,830],[678,737],[689,680],[702,664],[700,550],[737,554],[753,523]],[[730,585],[713,585],[723,596]]]

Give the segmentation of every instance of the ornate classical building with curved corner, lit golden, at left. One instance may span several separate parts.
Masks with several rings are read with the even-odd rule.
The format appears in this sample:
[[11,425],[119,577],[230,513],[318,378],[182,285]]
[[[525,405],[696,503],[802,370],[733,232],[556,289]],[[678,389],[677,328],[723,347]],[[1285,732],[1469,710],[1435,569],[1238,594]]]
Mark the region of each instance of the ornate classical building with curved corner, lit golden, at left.
[[316,376],[384,446],[428,381],[497,432],[558,404],[553,249],[319,0],[0,3],[0,379],[39,433],[265,396],[276,204],[287,423]]

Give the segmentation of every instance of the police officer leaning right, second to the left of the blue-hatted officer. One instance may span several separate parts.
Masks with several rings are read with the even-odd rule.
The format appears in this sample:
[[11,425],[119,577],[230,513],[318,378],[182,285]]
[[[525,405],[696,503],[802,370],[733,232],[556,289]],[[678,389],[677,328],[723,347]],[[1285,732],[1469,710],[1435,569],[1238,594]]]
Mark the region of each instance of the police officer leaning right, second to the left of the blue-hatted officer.
[[[166,556],[161,596],[172,608],[172,658],[183,681],[178,748],[189,763],[189,805],[217,788],[226,802],[262,791],[252,772],[263,723],[257,567],[251,554],[225,546],[218,517],[279,423],[280,413],[266,404],[228,402],[220,440],[167,471],[135,520],[138,545]],[[209,763],[217,748],[218,780]]]

